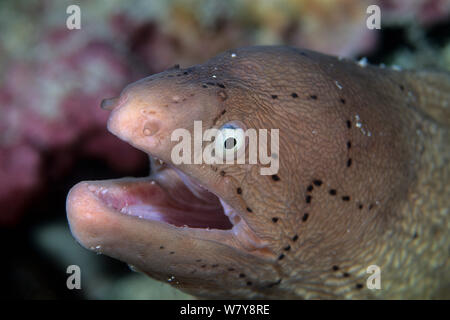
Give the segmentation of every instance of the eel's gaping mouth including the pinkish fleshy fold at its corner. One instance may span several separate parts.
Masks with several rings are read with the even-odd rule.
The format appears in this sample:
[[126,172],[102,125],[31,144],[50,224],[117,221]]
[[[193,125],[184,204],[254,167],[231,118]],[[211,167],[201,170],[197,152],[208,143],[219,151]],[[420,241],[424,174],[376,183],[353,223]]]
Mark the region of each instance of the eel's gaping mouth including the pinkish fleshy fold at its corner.
[[[223,199],[177,169],[156,168],[150,177],[87,182],[105,210],[158,223],[258,255],[272,256],[268,243]],[[192,201],[195,199],[195,201]]]

